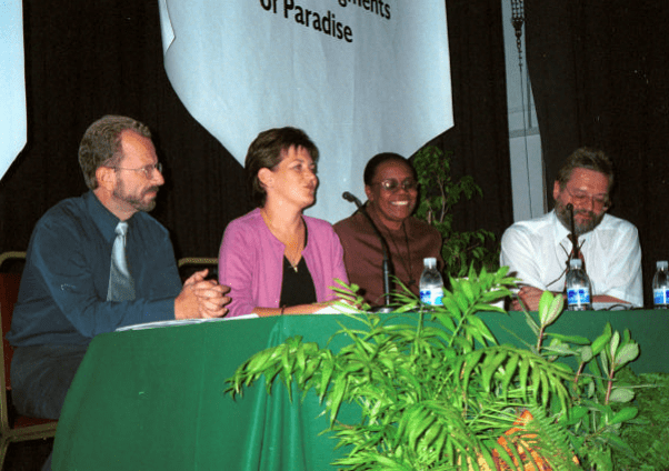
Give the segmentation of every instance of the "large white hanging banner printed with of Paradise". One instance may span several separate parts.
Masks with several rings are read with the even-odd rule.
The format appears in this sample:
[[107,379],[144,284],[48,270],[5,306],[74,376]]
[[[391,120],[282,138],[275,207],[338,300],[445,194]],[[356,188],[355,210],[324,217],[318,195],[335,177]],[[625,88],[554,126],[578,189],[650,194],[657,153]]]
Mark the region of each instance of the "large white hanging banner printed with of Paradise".
[[[446,6],[435,0],[160,0],[164,66],[189,112],[243,164],[266,129],[320,150],[337,222],[378,152],[410,156],[453,124]],[[222,182],[221,182],[222,183]]]

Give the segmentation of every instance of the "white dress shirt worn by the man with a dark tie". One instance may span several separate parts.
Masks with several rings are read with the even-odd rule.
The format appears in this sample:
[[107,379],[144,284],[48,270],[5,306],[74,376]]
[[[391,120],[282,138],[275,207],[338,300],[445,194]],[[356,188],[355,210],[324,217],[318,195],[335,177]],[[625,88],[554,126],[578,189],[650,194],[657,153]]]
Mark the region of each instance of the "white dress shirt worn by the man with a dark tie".
[[[526,284],[562,292],[567,259],[571,252],[569,230],[555,210],[530,221],[516,222],[502,236],[500,264]],[[592,294],[608,294],[635,307],[643,305],[641,247],[637,228],[605,214],[601,223],[578,239],[586,260]]]

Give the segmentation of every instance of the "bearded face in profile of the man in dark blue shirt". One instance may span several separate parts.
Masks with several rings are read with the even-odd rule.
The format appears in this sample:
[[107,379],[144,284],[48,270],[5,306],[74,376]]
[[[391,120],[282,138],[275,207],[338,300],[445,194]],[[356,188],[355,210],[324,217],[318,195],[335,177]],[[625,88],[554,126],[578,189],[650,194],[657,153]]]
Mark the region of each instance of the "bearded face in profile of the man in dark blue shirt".
[[158,188],[164,183],[162,174],[153,167],[158,163],[156,148],[149,138],[123,131],[121,149],[123,158],[116,166],[113,197],[117,203],[132,212],[151,211],[156,207]]

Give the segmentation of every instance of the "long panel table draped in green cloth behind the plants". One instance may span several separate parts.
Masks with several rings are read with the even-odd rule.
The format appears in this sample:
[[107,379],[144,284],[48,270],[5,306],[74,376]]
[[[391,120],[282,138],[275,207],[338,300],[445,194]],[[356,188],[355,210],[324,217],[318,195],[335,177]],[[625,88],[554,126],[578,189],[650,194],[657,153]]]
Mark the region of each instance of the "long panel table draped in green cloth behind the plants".
[[[501,343],[533,342],[522,313],[481,315]],[[287,315],[98,335],[68,393],[53,469],[334,470],[330,463],[343,452],[331,435],[319,434],[328,420],[319,417],[313,394],[290,402],[282,385],[268,395],[259,383],[232,399],[224,380],[250,355],[289,337],[322,347],[341,324],[356,322]],[[593,339],[606,322],[629,328],[640,343],[637,372],[669,372],[667,312],[565,312],[550,331]],[[356,420],[353,408],[343,413],[343,421]]]

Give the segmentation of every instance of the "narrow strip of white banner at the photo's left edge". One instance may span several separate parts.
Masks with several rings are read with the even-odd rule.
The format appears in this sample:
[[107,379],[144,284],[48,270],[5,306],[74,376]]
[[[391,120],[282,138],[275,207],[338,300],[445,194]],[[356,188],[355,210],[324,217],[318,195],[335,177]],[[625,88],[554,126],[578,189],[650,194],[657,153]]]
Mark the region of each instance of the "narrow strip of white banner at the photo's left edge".
[[26,146],[21,0],[0,1],[0,178]]

